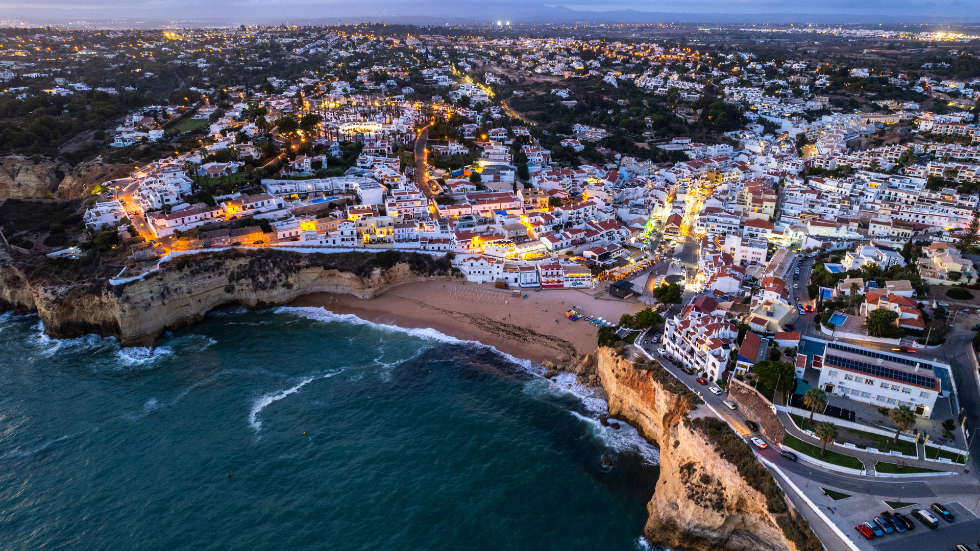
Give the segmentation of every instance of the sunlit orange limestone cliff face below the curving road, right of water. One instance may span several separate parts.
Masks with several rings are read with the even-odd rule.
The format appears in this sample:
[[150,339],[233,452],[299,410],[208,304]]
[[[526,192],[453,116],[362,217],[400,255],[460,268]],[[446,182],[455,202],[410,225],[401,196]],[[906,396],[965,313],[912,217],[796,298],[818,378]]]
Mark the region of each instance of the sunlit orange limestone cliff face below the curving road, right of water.
[[647,537],[672,549],[794,548],[766,509],[765,497],[696,428],[685,426],[685,398],[664,390],[611,348],[599,350],[597,374],[613,417],[628,421],[661,447],[661,476],[647,505]]

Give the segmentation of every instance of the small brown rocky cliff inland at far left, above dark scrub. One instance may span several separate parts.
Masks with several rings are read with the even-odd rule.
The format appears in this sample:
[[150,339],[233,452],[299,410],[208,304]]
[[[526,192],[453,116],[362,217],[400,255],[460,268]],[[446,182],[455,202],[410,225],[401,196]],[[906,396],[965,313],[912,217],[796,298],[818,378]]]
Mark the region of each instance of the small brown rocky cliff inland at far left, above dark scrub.
[[57,161],[3,157],[0,158],[0,201],[44,197],[45,193],[59,199],[79,197],[96,184],[122,177],[131,169],[130,165],[107,165],[99,160],[72,167]]

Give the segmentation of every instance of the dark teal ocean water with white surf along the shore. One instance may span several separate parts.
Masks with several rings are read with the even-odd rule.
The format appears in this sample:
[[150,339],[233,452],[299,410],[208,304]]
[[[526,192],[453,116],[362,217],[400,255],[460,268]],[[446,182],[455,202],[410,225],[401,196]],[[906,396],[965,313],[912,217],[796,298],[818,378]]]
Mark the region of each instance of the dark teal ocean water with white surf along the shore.
[[0,316],[5,551],[650,546],[657,449],[488,347],[320,309],[41,329]]

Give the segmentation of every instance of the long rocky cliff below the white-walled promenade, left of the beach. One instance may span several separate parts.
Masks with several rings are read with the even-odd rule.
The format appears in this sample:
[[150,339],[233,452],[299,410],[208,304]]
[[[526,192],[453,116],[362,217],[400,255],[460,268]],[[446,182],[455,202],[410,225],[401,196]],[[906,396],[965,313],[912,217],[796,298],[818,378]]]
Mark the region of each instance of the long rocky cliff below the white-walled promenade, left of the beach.
[[123,346],[147,346],[163,331],[195,324],[223,304],[262,308],[319,292],[370,298],[430,274],[450,276],[448,261],[433,266],[438,261],[425,255],[404,255],[411,262],[387,269],[375,267],[373,256],[337,261],[337,255],[270,249],[201,253],[177,257],[159,272],[121,285],[105,279],[36,280],[0,259],[0,309],[36,312],[45,332],[56,338],[91,332],[116,336]]

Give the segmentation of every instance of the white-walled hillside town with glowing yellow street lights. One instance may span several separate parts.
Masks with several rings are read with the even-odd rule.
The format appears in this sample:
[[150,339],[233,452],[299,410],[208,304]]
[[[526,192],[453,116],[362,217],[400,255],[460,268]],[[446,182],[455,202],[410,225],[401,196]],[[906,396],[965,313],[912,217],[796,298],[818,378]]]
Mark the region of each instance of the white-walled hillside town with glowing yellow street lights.
[[54,163],[52,199],[101,172],[76,224],[3,239],[62,269],[104,255],[113,285],[271,248],[577,289],[565,318],[752,442],[826,549],[973,551],[977,36],[6,27],[0,169]]

